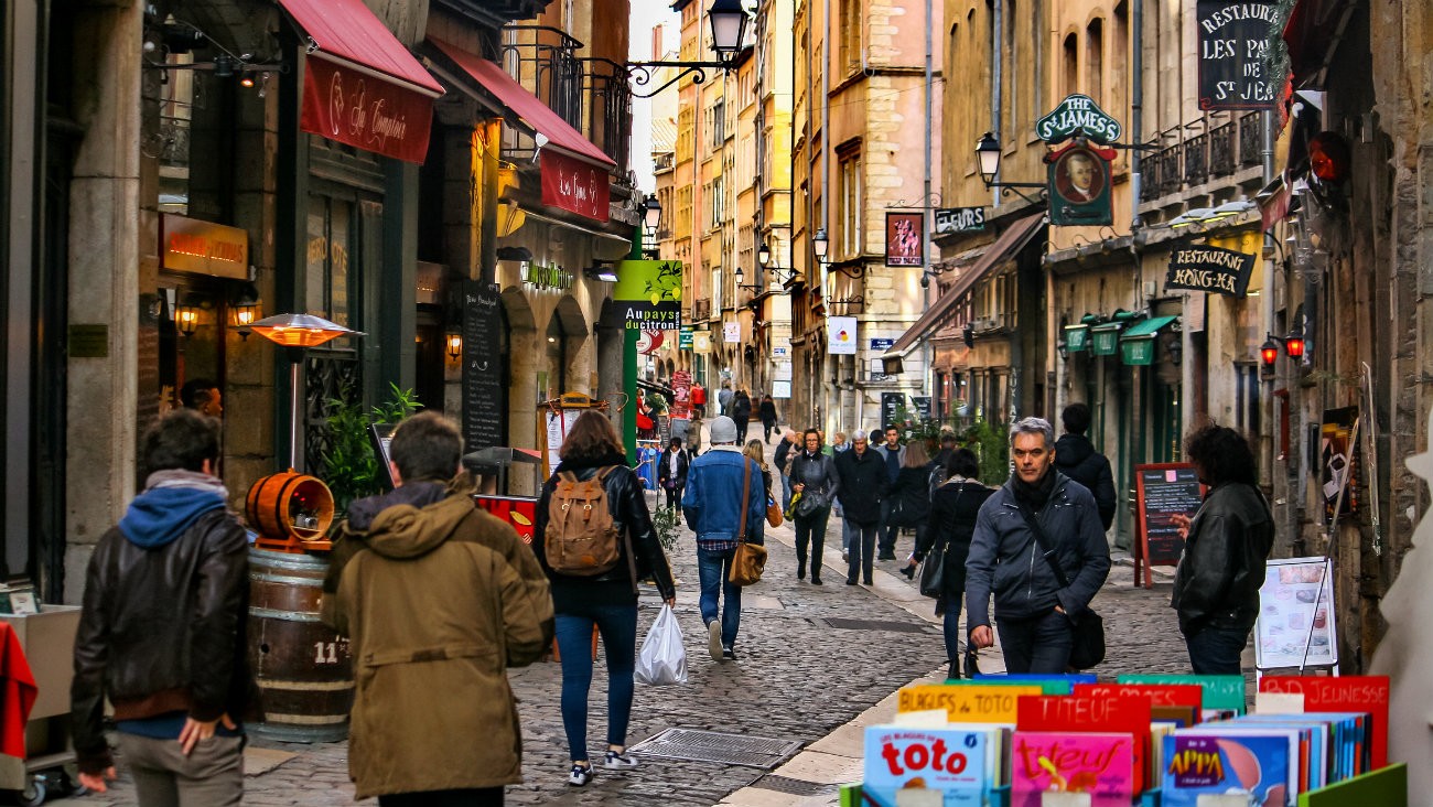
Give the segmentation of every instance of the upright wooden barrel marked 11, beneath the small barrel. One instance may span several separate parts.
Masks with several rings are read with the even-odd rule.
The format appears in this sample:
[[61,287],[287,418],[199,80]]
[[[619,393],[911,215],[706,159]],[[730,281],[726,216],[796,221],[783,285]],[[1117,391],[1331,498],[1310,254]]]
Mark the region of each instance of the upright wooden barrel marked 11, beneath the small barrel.
[[348,737],[354,702],[348,639],[318,621],[328,560],[249,550],[249,662],[264,694],[251,730],[287,742]]

